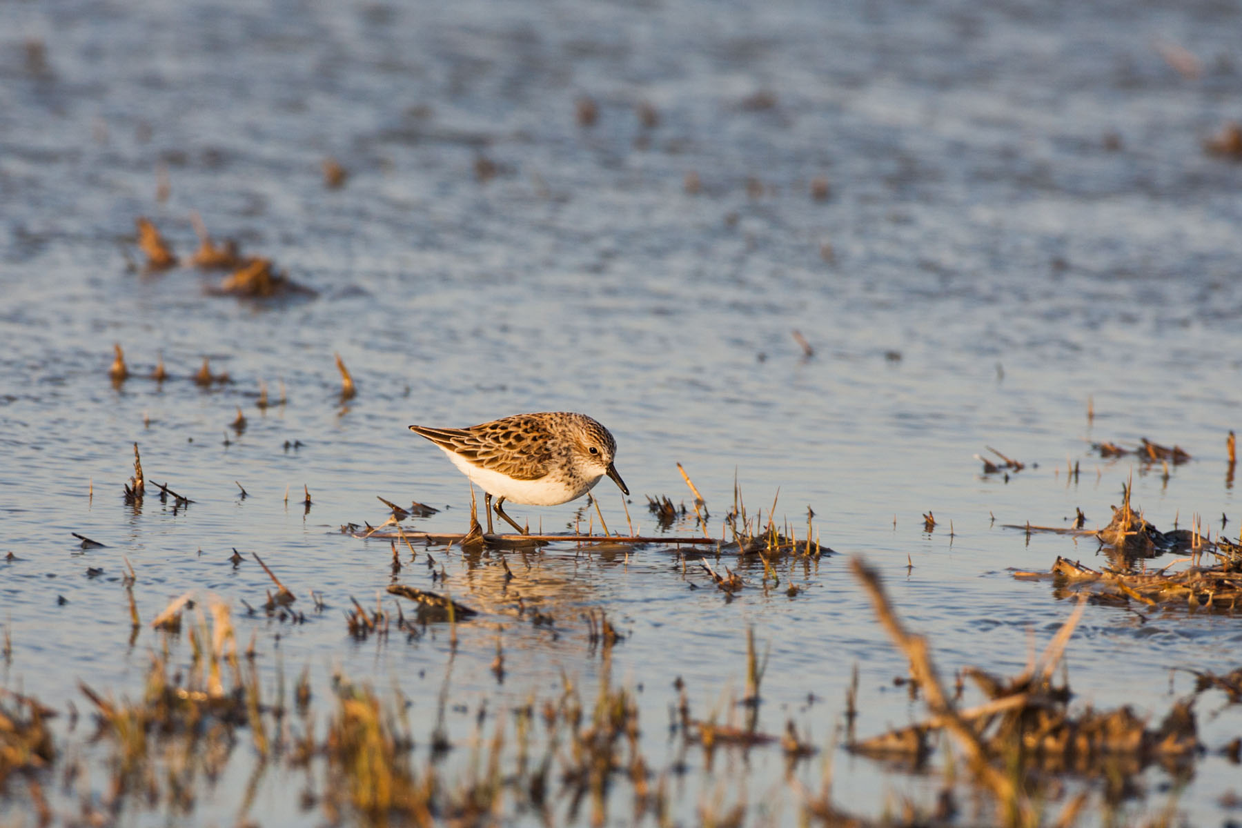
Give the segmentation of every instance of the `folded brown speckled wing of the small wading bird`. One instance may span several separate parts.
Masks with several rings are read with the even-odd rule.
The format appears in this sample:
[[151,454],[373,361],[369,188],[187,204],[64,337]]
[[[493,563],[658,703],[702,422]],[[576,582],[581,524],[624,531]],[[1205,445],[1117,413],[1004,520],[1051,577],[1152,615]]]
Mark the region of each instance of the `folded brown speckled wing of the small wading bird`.
[[548,430],[530,416],[504,417],[469,428],[410,430],[476,466],[518,480],[546,475],[553,458]]

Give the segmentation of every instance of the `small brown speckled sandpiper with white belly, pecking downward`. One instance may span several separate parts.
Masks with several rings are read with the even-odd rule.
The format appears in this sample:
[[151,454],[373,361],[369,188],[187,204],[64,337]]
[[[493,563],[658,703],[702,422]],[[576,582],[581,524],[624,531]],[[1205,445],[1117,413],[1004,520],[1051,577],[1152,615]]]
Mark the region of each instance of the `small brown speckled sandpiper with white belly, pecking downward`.
[[505,500],[550,506],[580,498],[605,474],[630,494],[612,458],[617,444],[607,428],[568,411],[514,415],[468,428],[410,426],[448,456],[484,492],[487,531],[496,514],[525,531],[502,509]]

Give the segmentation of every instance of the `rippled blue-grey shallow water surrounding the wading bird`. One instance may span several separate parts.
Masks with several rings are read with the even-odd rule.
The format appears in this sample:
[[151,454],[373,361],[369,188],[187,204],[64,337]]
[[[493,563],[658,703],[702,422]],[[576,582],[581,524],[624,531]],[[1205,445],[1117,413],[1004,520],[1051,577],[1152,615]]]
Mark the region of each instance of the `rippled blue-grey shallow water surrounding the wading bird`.
[[[383,521],[376,495],[448,506],[419,529],[465,528],[465,479],[411,422],[584,411],[617,438],[637,529],[656,528],[643,495],[689,502],[679,461],[713,531],[737,479],[750,511],[766,514],[779,490],[777,516],[799,536],[811,506],[822,544],[841,552],[799,562],[768,591],[749,570],[751,586],[727,602],[656,547],[510,556],[509,595],[494,559],[432,550],[445,586],[489,610],[462,626],[452,663],[458,744],[481,705],[555,691],[563,672],[594,686],[601,660],[579,614],[599,607],[627,636],[611,669],[642,685],[650,755],[674,752],[663,725],[676,677],[697,714],[728,715],[749,628],[770,648],[763,726],[779,732],[791,718],[827,747],[854,664],[859,734],[923,714],[893,686],[904,658],[847,555],[881,569],[946,675],[1015,673],[1028,631],[1042,647],[1071,606],[1007,570],[1102,559],[1002,524],[1066,525],[1081,506],[1103,525],[1133,474],[1134,503],[1158,526],[1197,513],[1215,531],[1223,513],[1237,530],[1223,446],[1242,397],[1242,166],[1201,149],[1242,103],[1236,9],[60,2],[2,16],[0,554],[19,559],[0,564],[5,686],[57,706],[83,705],[79,679],[137,694],[163,638],[144,628],[129,643],[124,557],[143,619],[186,590],[216,592],[243,639],[258,633],[268,680],[282,664],[309,665],[319,688],[334,669],[397,682],[422,736],[447,639],[353,642],[340,613],[350,596],[374,602],[390,552],[335,531]],[[1179,76],[1156,42],[1190,48],[1201,76]],[[582,96],[599,107],[592,127],[575,120]],[[641,102],[656,127],[641,124]],[[340,190],[323,185],[329,155],[350,174]],[[496,178],[477,179],[479,158]],[[810,194],[817,176],[825,201]],[[318,297],[237,302],[205,293],[217,274],[127,266],[140,256],[134,217],[189,254],[191,211]],[[107,377],[114,341],[137,375],[119,389]],[[358,382],[348,403],[334,353]],[[142,376],[158,354],[173,374],[159,385]],[[233,382],[194,385],[204,356]],[[287,402],[256,408],[260,382],[273,398],[283,382]],[[241,434],[229,428],[238,407]],[[1195,459],[1164,480],[1088,451],[1143,436]],[[122,503],[135,441],[148,479],[193,498],[189,509]],[[981,477],[972,454],[985,446],[1030,467]],[[1067,482],[1074,462],[1081,477]],[[597,494],[610,526],[623,526],[611,483]],[[510,513],[561,530],[581,505]],[[107,547],[83,551],[73,531]],[[307,623],[243,614],[271,582],[252,561],[235,569],[232,547],[277,571]],[[104,575],[87,578],[88,566]],[[402,580],[443,588],[417,562]],[[785,581],[804,591],[787,597]],[[553,608],[556,633],[517,617],[512,591]],[[498,636],[503,684],[489,672]],[[1081,703],[1159,716],[1191,688],[1172,668],[1238,667],[1240,641],[1230,616],[1143,621],[1090,606],[1069,679]],[[186,655],[185,642],[171,647]],[[1222,698],[1199,713],[1210,750],[1240,735]],[[863,813],[935,790],[827,756],[838,802]],[[821,758],[800,766],[809,786]],[[719,757],[712,772],[694,752],[687,762],[678,816],[689,823],[737,775]],[[779,752],[746,762],[738,797],[751,816],[791,822],[799,801]],[[196,816],[237,818],[246,776],[231,771]],[[1235,780],[1216,756],[1176,794],[1149,771],[1149,796],[1131,807],[1172,797],[1186,821],[1220,822]],[[288,796],[268,778],[248,816],[294,824]],[[623,823],[627,807],[612,818]]]

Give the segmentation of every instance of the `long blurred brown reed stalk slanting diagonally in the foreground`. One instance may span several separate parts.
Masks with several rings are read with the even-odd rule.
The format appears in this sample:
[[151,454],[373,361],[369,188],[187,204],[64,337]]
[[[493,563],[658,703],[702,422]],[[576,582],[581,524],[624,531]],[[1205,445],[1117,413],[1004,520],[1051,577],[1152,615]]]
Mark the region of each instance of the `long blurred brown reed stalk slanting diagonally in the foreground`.
[[881,626],[884,627],[893,642],[905,653],[905,658],[910,663],[910,673],[923,689],[923,693],[927,694],[928,706],[932,709],[932,713],[944,721],[945,729],[966,754],[980,781],[992,791],[992,794],[1005,811],[1006,822],[1009,824],[1035,824],[1036,814],[1031,801],[1017,788],[1011,777],[997,770],[979,734],[965,722],[958,708],[945,693],[935,665],[932,663],[932,653],[927,639],[923,636],[907,632],[900,619],[893,613],[893,608],[888,603],[888,597],[884,595],[879,574],[867,566],[859,557],[850,561],[850,569],[871,597],[876,617],[879,619]]

